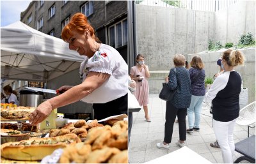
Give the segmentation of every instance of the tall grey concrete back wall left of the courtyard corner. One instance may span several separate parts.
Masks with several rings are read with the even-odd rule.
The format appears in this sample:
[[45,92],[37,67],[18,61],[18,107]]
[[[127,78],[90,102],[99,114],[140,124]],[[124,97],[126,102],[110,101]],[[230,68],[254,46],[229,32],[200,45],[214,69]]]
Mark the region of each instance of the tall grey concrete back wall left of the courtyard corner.
[[214,12],[137,4],[136,35],[137,52],[145,55],[149,69],[166,70],[175,54],[207,49],[214,40]]

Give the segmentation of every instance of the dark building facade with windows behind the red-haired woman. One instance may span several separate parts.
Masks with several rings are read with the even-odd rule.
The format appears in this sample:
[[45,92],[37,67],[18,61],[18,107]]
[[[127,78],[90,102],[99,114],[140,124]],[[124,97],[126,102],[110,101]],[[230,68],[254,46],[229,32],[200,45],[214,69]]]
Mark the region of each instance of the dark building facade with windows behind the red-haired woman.
[[116,48],[127,62],[127,1],[32,1],[20,21],[61,38],[61,30],[77,12],[86,15],[99,40]]

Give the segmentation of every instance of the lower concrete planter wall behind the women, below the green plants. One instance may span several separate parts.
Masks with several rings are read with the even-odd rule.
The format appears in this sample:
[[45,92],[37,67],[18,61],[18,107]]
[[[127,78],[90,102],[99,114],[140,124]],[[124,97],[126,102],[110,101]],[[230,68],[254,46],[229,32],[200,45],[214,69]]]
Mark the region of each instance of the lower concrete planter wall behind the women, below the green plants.
[[[255,100],[255,48],[241,49],[246,57],[244,66],[237,66],[235,68],[243,78],[243,87],[248,88],[249,102]],[[215,73],[220,70],[220,66],[216,61],[221,56],[223,51],[209,52],[204,54],[188,54],[188,61],[191,61],[193,56],[199,55],[205,64],[205,77],[213,77]],[[169,75],[168,71],[150,71],[150,78],[148,85],[150,93],[160,93],[164,77]]]

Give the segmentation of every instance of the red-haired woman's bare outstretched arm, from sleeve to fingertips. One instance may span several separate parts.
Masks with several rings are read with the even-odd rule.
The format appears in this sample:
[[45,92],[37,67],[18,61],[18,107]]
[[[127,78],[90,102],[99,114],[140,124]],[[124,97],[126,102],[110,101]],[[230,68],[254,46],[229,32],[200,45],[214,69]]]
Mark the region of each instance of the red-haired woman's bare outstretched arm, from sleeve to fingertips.
[[100,87],[109,77],[110,75],[107,73],[91,71],[82,84],[74,86],[65,91],[65,93],[41,103],[29,117],[29,122],[31,124],[41,123],[51,114],[52,109],[81,100]]

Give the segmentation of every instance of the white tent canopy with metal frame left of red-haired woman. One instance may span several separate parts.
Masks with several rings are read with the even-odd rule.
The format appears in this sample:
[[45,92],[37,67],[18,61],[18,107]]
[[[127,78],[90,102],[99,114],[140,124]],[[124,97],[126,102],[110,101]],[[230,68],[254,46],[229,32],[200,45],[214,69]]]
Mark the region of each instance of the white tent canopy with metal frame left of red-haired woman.
[[1,78],[46,82],[79,68],[83,59],[65,41],[20,21],[1,27]]

